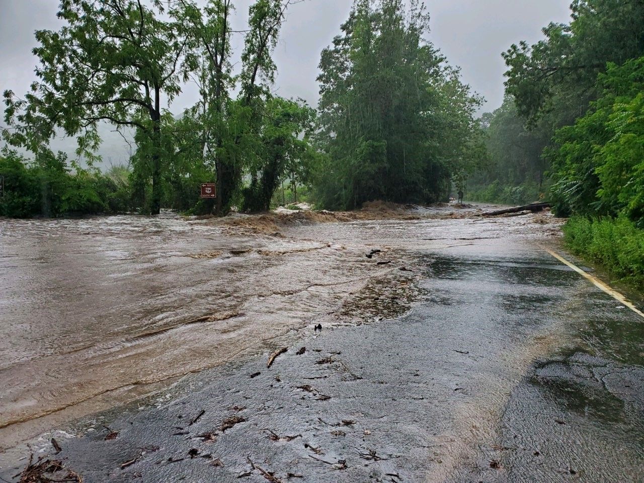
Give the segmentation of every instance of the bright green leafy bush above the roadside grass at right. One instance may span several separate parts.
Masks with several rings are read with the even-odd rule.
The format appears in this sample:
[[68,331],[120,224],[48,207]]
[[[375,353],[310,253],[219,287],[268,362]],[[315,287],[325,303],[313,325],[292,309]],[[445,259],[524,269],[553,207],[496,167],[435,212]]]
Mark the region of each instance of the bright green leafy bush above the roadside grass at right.
[[603,96],[547,153],[558,214],[623,213],[644,227],[644,57],[609,64]]

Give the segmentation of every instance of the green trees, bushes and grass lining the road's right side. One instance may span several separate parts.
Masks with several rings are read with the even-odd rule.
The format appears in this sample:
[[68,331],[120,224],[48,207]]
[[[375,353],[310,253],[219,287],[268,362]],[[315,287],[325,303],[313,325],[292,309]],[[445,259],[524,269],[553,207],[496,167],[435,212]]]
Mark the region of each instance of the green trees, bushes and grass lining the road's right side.
[[504,53],[507,97],[483,119],[491,164],[471,181],[484,185],[475,196],[496,184],[490,201],[549,198],[577,217],[565,229],[573,251],[644,286],[644,1],[571,10],[543,41]]

